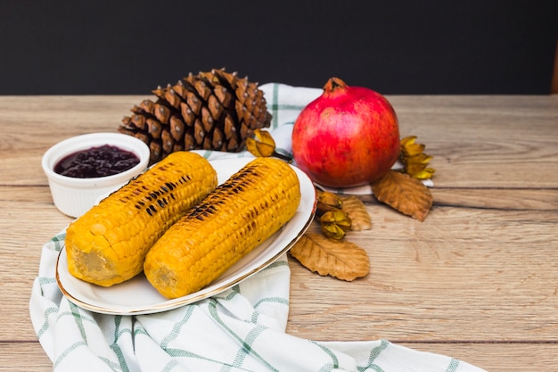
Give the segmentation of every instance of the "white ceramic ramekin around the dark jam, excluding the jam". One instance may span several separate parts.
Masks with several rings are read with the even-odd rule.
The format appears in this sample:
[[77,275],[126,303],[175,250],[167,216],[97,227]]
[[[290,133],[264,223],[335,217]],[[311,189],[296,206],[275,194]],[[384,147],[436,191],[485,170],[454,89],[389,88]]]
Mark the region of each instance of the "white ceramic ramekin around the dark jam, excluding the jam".
[[[71,178],[54,172],[56,163],[70,153],[102,145],[114,145],[135,153],[140,162],[132,169],[101,178]],[[42,165],[56,208],[70,217],[78,218],[91,209],[100,196],[110,194],[142,173],[149,163],[149,155],[149,147],[134,136],[92,133],[74,136],[53,145],[43,155]]]

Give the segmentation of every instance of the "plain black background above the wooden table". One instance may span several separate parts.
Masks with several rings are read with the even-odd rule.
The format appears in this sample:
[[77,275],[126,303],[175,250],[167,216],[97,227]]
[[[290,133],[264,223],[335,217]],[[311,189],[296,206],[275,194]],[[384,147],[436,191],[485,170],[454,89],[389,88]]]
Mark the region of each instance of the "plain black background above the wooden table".
[[226,67],[382,94],[548,94],[556,1],[0,2],[0,95],[150,94]]

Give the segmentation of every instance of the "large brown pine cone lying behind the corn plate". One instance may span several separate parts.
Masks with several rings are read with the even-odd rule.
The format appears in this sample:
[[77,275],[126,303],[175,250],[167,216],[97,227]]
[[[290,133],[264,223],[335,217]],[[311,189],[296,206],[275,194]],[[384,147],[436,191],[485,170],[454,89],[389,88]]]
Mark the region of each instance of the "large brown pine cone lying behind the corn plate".
[[182,150],[242,151],[254,129],[271,122],[258,84],[225,69],[190,73],[152,93],[157,100],[135,105],[118,129],[149,145],[151,163]]

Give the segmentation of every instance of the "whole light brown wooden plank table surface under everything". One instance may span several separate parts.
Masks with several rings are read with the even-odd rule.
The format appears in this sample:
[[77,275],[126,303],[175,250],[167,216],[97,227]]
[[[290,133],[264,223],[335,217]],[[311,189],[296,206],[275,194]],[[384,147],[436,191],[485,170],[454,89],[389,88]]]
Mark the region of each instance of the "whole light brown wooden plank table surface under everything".
[[[0,370],[48,371],[29,320],[41,246],[70,222],[41,156],[63,138],[116,131],[141,96],[0,96]],[[488,371],[556,370],[558,95],[388,97],[401,134],[434,156],[434,205],[418,222],[367,199],[353,233],[371,273],[352,283],[291,260],[287,332],[385,338]]]

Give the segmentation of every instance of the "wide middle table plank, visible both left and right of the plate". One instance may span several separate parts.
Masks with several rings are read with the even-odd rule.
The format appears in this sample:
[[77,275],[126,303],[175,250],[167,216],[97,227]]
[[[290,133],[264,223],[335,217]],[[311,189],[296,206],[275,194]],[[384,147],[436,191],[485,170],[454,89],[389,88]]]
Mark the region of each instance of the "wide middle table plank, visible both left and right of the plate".
[[[0,226],[9,247],[4,257],[18,263],[0,271],[3,296],[12,299],[4,304],[11,327],[0,328],[0,340],[34,337],[21,309],[29,306],[42,244],[70,221],[45,202],[45,187],[25,189],[30,190],[21,199],[29,201],[6,200],[4,211],[13,220],[42,216],[42,225],[38,232],[33,224]],[[291,260],[292,334],[343,340],[371,335],[402,341],[555,340],[558,271],[548,260],[558,242],[555,210],[436,206],[421,223],[379,203],[367,209],[373,230],[349,239],[366,247],[368,277],[341,282]],[[308,308],[308,303],[315,305]]]

